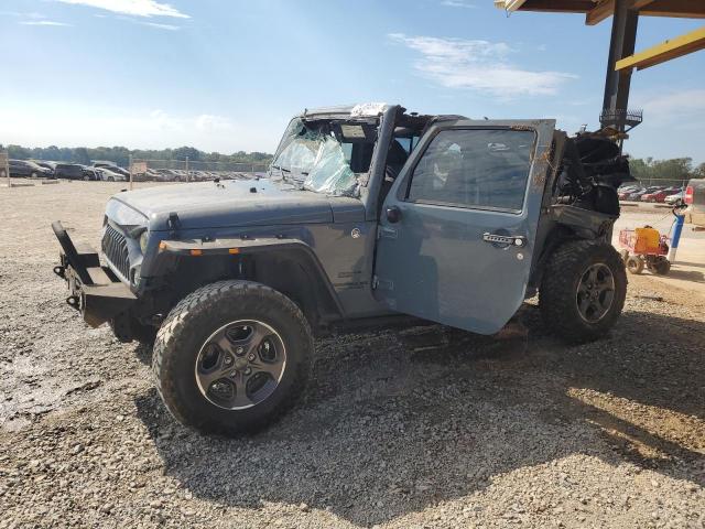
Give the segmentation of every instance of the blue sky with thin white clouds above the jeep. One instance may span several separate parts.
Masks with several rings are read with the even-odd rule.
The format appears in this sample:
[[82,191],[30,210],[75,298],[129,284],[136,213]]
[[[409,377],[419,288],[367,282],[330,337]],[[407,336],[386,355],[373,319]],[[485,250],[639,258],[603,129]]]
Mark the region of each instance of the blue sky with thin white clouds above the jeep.
[[[596,127],[610,21],[491,0],[2,0],[0,143],[272,151],[306,107]],[[702,21],[639,22],[637,47]],[[705,52],[634,73],[636,156],[705,161]]]

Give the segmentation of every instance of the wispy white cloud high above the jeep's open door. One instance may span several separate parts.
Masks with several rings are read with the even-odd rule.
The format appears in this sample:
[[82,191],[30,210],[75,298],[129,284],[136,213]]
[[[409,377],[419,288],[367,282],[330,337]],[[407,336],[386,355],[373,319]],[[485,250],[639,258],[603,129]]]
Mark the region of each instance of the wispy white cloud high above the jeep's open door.
[[562,72],[532,72],[513,65],[513,50],[503,42],[392,33],[397,43],[419,52],[414,67],[446,88],[467,88],[505,98],[554,95],[565,82],[577,76]]

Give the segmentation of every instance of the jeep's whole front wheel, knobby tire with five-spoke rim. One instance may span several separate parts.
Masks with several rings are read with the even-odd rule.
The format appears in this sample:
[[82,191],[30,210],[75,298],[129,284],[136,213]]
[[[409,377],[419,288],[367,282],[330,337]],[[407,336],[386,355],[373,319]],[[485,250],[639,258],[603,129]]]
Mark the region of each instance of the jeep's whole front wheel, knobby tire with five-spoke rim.
[[180,422],[236,435],[294,403],[312,356],[311,328],[294,302],[260,283],[220,281],[171,311],[156,334],[152,370]]

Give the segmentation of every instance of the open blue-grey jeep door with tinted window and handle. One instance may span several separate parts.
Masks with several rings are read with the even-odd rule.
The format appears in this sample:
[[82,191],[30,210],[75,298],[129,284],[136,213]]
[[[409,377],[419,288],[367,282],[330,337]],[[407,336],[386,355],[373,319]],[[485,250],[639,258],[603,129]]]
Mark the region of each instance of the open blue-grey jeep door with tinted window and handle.
[[425,320],[498,332],[524,300],[554,125],[431,128],[384,199],[376,299]]

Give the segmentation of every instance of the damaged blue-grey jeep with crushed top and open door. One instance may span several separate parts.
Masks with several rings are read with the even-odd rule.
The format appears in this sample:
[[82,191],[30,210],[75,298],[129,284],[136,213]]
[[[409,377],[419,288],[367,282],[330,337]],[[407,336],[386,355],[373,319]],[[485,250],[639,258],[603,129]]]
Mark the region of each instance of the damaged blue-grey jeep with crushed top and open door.
[[629,164],[606,134],[554,126],[384,104],[306,110],[267,177],[112,196],[100,256],[54,223],[54,271],[89,325],[153,342],[178,421],[227,435],[293,404],[317,334],[494,334],[539,294],[549,330],[595,339],[625,302],[610,236]]

